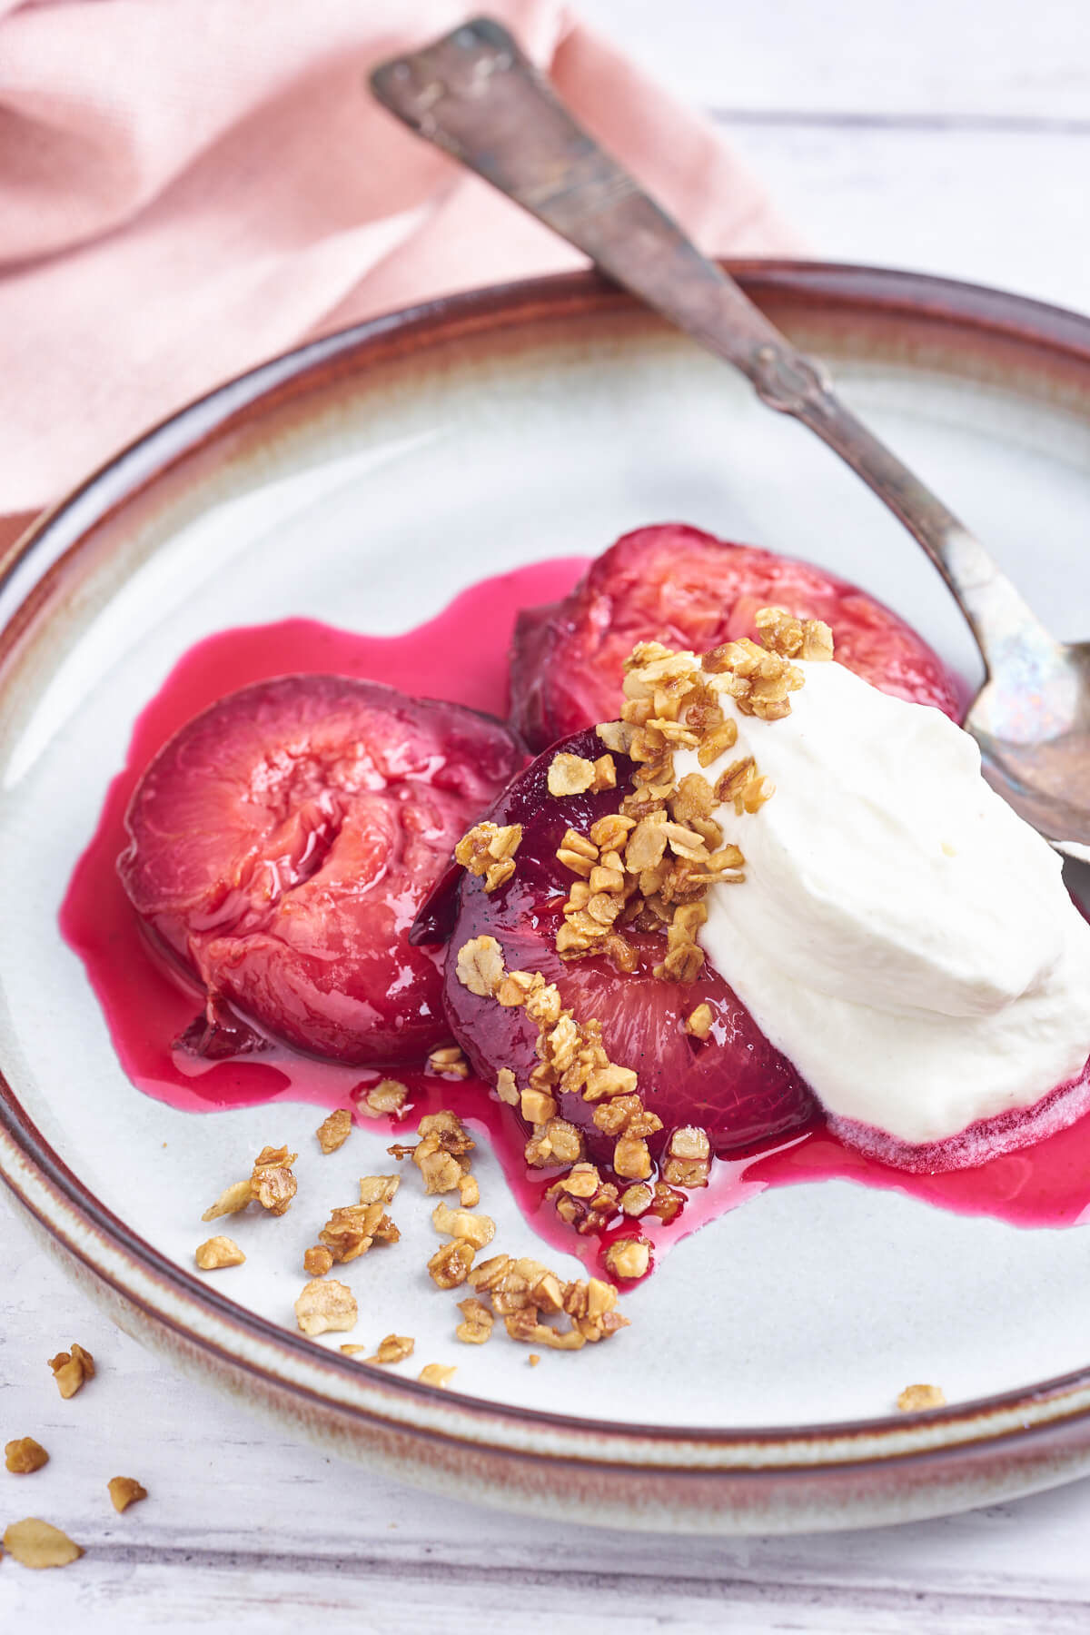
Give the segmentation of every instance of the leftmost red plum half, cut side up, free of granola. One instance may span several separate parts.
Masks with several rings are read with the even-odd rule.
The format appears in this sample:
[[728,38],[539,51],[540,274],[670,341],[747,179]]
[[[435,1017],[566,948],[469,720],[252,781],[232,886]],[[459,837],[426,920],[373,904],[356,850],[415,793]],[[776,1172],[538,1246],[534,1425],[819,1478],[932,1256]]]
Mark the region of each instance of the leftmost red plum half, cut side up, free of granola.
[[224,1004],[335,1061],[448,1038],[441,960],[409,927],[525,759],[489,716],[345,675],[258,682],[181,728],[136,786],[118,871],[206,989],[190,1048],[222,1055]]

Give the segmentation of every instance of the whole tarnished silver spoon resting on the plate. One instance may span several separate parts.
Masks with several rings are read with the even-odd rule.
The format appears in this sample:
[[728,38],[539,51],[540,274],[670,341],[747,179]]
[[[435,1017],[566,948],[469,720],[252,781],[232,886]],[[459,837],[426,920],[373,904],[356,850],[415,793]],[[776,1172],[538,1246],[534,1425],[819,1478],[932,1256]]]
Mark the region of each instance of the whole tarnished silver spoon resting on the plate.
[[384,62],[376,98],[583,250],[709,352],[770,409],[833,448],[928,553],[981,647],[966,716],[992,786],[1054,847],[1090,862],[1090,643],[1041,626],[954,513],[835,396],[714,262],[572,119],[505,28],[477,18]]

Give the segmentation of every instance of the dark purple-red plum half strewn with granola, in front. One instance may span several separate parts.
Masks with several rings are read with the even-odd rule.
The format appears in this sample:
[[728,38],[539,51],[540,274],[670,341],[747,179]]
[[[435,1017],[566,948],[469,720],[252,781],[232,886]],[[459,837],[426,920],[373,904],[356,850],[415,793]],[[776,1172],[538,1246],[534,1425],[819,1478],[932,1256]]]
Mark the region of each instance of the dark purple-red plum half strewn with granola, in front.
[[[556,952],[561,904],[574,876],[556,858],[565,829],[587,834],[590,824],[616,811],[616,790],[557,800],[546,780],[552,755],[569,750],[595,757],[601,744],[592,731],[579,732],[539,755],[487,814],[497,824],[521,824],[515,875],[492,894],[480,878],[464,875],[456,903],[438,893],[413,935],[449,932],[446,961],[446,1014],[474,1069],[489,1084],[500,1068],[510,1068],[520,1086],[538,1061],[538,1028],[518,1007],[472,994],[458,981],[458,950],[472,937],[495,937],[508,970],[541,971],[556,981],[565,1006],[579,1022],[596,1017],[610,1059],[639,1074],[644,1105],[663,1123],[650,1140],[659,1153],[670,1131],[695,1123],[708,1130],[719,1154],[744,1153],[775,1136],[804,1128],[815,1117],[815,1102],[794,1068],[760,1032],[722,978],[704,965],[691,983],[662,981],[652,974],[665,952],[665,937],[626,925],[626,942],[639,953],[632,973],[618,971],[608,958],[562,960]],[[618,785],[628,786],[632,762],[614,755]],[[708,1040],[685,1032],[683,1022],[701,1002],[713,1010]],[[592,1123],[593,1109],[579,1095],[561,1095],[561,1113],[587,1135],[593,1158],[608,1162],[613,1141]]]

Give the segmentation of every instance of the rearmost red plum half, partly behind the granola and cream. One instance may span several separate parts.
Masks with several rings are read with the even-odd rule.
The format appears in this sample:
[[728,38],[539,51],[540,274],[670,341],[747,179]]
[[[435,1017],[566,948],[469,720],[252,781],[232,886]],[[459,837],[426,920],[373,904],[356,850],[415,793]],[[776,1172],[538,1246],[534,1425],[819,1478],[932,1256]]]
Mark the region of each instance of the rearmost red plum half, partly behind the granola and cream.
[[941,659],[874,597],[811,562],[729,544],[685,523],[626,533],[564,602],[520,613],[511,721],[531,749],[611,721],[621,708],[624,659],[637,641],[704,652],[755,638],[753,615],[768,605],[825,620],[847,669],[961,721],[964,701]]

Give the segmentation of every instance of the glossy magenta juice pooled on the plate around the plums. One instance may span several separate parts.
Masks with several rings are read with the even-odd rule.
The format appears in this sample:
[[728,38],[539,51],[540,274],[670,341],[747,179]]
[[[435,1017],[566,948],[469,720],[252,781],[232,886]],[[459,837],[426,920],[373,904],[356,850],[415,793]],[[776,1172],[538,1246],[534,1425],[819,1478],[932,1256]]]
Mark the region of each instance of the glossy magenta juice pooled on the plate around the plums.
[[[507,652],[518,610],[564,595],[583,567],[582,559],[565,558],[485,579],[404,636],[358,636],[310,620],[286,620],[209,636],[178,661],[132,729],[127,765],[109,786],[98,831],[72,875],[60,912],[60,929],[87,966],[121,1064],[141,1091],[188,1112],[265,1102],[343,1107],[353,1105],[353,1092],[382,1077],[381,1071],[315,1061],[281,1046],[217,1063],[172,1048],[199,1010],[201,996],[150,952],[114,867],[126,840],[129,796],[155,750],[224,693],[294,670],[368,677],[505,714]],[[405,1140],[399,1131],[413,1128],[420,1113],[449,1107],[495,1148],[533,1228],[600,1267],[601,1243],[575,1238],[557,1220],[544,1200],[547,1179],[528,1172],[523,1162],[521,1127],[484,1084],[389,1071],[410,1087],[412,1112],[400,1125],[387,1122],[391,1140]],[[1090,1216],[1090,1117],[1021,1153],[933,1176],[905,1174],[864,1158],[819,1123],[766,1151],[717,1162],[711,1185],[688,1195],[672,1226],[644,1216],[639,1230],[660,1251],[766,1187],[827,1179],[894,1189],[1018,1226],[1072,1226]],[[632,1230],[632,1221],[619,1228]],[[603,1241],[613,1236],[616,1226]]]

